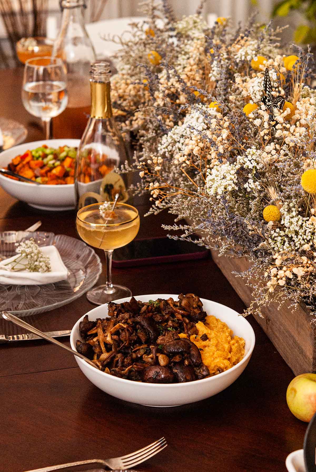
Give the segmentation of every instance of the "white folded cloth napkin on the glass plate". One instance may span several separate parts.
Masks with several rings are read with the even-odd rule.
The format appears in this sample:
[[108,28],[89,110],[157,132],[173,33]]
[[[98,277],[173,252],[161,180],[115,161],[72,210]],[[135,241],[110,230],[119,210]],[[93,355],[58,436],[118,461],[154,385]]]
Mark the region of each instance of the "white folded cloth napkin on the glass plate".
[[[51,262],[50,272],[26,272],[26,270],[9,270],[8,264],[18,257],[18,254],[0,262],[0,284],[7,285],[43,285],[65,280],[68,270],[63,263],[60,253],[55,246],[43,246],[40,248],[44,256]],[[21,261],[23,262],[23,260]]]

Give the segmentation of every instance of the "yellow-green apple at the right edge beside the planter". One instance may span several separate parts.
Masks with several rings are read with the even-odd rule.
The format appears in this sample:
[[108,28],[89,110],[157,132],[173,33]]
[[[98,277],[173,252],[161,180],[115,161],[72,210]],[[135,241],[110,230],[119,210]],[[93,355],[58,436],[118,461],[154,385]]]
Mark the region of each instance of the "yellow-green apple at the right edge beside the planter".
[[289,384],[286,401],[294,416],[310,421],[316,413],[316,374],[300,374]]

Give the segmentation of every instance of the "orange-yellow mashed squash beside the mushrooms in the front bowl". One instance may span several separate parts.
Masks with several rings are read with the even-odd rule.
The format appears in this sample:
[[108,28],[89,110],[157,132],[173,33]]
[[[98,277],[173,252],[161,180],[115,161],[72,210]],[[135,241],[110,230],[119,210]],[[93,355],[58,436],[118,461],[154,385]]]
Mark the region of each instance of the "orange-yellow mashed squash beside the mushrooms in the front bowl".
[[[205,323],[196,323],[198,335],[192,335],[190,340],[201,351],[202,362],[208,367],[210,375],[227,371],[237,364],[245,355],[245,340],[233,336],[232,330],[226,323],[215,316],[207,316]],[[180,333],[179,337],[187,337]]]

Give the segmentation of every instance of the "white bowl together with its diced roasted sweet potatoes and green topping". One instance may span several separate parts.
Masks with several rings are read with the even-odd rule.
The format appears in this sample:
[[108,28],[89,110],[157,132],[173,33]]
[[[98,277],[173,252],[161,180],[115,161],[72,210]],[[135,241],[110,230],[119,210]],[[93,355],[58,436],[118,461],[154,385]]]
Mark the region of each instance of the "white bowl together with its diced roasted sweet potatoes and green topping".
[[79,139],[50,139],[19,144],[1,152],[1,169],[29,178],[34,184],[0,174],[0,186],[41,210],[75,208],[74,174],[79,143]]

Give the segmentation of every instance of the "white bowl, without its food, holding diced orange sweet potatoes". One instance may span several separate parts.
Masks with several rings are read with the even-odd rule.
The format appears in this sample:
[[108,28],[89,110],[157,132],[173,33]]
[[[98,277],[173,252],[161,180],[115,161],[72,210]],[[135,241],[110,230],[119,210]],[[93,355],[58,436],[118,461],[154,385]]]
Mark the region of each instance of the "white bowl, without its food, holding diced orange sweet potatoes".
[[[0,153],[0,167],[7,167],[11,160],[19,154],[24,154],[27,150],[36,149],[43,144],[52,148],[59,146],[78,147],[79,139],[43,139],[32,143],[23,143],[11,147]],[[72,210],[75,208],[75,186],[74,184],[64,185],[33,185],[27,182],[19,182],[0,174],[0,186],[8,194],[26,202],[34,208],[40,210]]]

